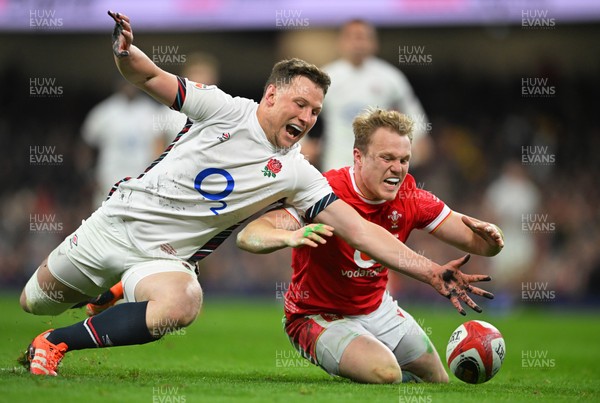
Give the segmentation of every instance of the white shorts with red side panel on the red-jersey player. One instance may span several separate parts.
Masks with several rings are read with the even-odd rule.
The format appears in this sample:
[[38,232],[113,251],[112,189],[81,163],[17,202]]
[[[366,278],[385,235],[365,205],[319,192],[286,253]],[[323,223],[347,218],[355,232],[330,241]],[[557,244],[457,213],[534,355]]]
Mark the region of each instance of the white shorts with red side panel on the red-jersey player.
[[381,341],[394,353],[400,367],[432,348],[427,334],[387,291],[381,305],[370,314],[300,316],[286,322],[285,331],[304,358],[331,375],[339,375],[346,347],[361,335],[371,335]]

